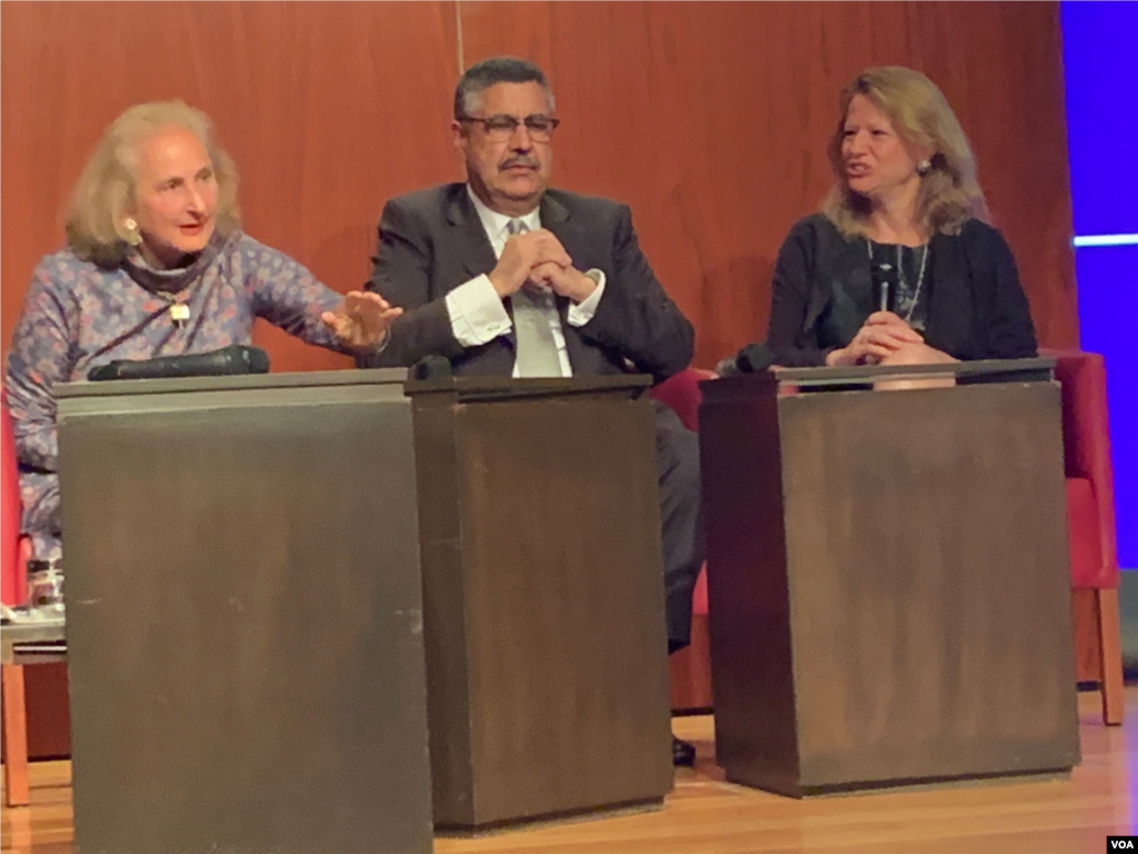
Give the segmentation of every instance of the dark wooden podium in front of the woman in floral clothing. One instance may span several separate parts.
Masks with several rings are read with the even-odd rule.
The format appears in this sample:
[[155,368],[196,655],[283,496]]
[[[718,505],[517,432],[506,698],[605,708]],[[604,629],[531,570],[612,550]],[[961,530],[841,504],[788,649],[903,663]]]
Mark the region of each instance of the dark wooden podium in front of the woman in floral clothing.
[[404,373],[59,389],[80,851],[431,851]]

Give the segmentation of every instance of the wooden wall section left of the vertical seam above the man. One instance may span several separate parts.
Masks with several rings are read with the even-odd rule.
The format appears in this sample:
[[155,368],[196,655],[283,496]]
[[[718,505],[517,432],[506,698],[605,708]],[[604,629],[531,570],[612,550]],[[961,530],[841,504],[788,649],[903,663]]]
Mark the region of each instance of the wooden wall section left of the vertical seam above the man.
[[[183,98],[242,175],[246,230],[338,290],[370,273],[384,199],[459,174],[444,133],[454,0],[0,0],[0,336],[102,128]],[[259,325],[277,370],[343,356]]]

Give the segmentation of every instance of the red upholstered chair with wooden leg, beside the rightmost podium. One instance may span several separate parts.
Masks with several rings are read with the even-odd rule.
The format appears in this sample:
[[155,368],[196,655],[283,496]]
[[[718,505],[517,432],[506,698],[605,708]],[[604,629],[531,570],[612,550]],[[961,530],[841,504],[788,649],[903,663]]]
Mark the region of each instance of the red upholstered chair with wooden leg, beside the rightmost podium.
[[1063,461],[1071,548],[1075,672],[1097,682],[1103,722],[1122,723],[1119,556],[1114,473],[1106,409],[1106,369],[1098,353],[1041,351],[1063,386]]

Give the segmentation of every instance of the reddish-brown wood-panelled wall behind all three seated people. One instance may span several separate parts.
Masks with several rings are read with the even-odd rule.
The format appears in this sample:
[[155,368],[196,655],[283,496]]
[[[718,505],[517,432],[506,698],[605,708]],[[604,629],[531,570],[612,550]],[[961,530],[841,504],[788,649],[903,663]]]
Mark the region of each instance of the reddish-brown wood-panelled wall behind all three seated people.
[[[468,64],[550,72],[558,181],[633,205],[700,363],[761,336],[778,244],[830,181],[835,93],[884,63],[945,89],[1041,340],[1077,343],[1057,0],[0,0],[0,336],[99,131],[150,98],[214,115],[251,235],[361,282],[382,200],[461,174],[456,2]],[[257,340],[277,369],[345,364]]]

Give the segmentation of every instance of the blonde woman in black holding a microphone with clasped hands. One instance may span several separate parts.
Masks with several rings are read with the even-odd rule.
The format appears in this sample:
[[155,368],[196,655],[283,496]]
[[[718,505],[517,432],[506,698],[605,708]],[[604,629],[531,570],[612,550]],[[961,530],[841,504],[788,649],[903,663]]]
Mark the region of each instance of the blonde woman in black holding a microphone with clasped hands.
[[967,138],[940,90],[869,68],[842,90],[822,210],[791,229],[767,345],[786,367],[1036,354],[1028,301],[987,224]]

